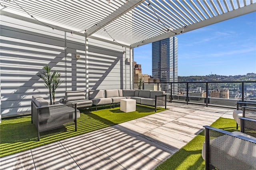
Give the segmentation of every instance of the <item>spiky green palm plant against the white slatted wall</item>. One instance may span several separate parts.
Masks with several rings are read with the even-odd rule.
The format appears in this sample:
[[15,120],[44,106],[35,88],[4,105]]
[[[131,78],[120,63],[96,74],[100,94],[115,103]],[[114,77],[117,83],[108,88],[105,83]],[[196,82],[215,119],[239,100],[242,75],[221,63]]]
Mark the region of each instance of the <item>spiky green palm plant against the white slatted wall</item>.
[[60,81],[60,73],[58,71],[54,71],[51,73],[51,67],[45,65],[43,67],[43,71],[37,74],[44,81],[45,87],[49,90],[50,93],[50,105],[55,103],[55,91],[60,86],[63,81]]

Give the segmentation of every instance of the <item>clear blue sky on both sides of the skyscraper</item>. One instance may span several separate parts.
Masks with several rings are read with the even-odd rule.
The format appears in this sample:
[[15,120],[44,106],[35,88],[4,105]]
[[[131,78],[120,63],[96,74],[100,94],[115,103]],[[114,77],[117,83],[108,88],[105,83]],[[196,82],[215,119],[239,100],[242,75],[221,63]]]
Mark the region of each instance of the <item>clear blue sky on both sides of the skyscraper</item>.
[[[179,76],[256,73],[256,12],[177,38]],[[152,75],[152,44],[134,48],[134,61]]]

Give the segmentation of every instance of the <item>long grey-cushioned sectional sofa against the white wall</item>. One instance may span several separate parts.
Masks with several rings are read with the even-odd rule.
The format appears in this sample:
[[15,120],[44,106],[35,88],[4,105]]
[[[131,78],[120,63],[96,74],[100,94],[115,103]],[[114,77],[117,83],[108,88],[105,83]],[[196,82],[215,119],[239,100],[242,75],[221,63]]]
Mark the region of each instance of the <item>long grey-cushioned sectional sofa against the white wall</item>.
[[[105,93],[105,95],[104,95]],[[163,99],[164,98],[164,99]],[[134,99],[136,103],[142,105],[166,106],[166,95],[164,91],[150,90],[130,90],[130,89],[108,89],[108,90],[89,90],[89,99],[86,99],[84,90],[66,91],[66,103],[76,103],[77,108],[97,107],[101,105],[112,105],[120,103],[121,99]]]

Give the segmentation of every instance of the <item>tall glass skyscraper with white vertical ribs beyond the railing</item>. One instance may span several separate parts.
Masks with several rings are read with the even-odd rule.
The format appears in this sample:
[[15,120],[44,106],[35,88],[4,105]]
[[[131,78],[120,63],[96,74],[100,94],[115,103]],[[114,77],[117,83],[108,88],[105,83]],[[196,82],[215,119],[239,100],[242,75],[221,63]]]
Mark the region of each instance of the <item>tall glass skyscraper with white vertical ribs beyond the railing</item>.
[[[170,37],[152,43],[152,77],[160,82],[178,82],[178,38]],[[178,84],[172,83],[172,94],[178,94]],[[169,92],[168,84],[162,90]]]

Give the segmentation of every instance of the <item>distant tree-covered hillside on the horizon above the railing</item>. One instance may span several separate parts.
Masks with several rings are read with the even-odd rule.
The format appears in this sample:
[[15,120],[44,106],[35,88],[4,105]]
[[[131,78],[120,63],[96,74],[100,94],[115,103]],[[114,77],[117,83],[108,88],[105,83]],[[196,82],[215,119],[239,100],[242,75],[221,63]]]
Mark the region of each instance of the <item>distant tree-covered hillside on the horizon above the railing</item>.
[[246,75],[205,75],[205,76],[178,76],[179,82],[198,82],[198,81],[256,81],[256,73],[247,73]]

